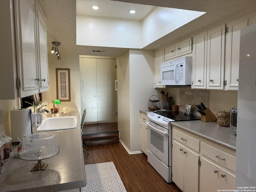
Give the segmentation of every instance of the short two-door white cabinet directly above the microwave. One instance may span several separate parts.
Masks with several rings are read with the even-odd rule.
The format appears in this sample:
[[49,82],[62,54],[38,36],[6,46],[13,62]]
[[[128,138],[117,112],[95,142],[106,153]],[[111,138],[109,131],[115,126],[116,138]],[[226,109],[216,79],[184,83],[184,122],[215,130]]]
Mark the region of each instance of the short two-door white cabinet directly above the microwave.
[[176,44],[165,48],[164,60],[180,57],[192,52],[191,47],[192,38],[186,38]]

